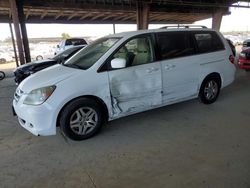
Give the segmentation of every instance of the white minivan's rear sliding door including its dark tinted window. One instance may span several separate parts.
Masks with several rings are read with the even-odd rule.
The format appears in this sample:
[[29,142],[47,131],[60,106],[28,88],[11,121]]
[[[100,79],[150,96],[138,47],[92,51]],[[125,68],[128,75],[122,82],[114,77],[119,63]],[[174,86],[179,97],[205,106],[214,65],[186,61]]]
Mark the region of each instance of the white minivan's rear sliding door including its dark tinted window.
[[156,34],[162,66],[163,103],[185,100],[197,95],[199,58],[190,32]]

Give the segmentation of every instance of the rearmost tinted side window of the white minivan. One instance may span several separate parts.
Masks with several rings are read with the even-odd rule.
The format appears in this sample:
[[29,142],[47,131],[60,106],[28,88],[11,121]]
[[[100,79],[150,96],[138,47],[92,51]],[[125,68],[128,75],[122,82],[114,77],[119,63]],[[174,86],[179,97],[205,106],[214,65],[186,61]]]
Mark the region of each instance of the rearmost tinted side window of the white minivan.
[[220,37],[215,32],[195,33],[194,38],[197,43],[198,53],[215,52],[225,49]]

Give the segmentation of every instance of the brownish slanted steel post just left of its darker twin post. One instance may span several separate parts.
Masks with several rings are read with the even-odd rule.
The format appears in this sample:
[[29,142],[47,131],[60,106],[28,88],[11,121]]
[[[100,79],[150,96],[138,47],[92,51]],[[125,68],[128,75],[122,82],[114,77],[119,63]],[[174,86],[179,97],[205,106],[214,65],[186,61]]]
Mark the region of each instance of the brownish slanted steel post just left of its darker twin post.
[[25,61],[24,61],[24,54],[23,54],[23,43],[22,43],[21,32],[20,32],[20,27],[19,27],[19,19],[17,15],[16,1],[9,0],[9,2],[10,2],[11,14],[12,14],[12,19],[13,19],[14,28],[15,28],[19,60],[20,60],[20,64],[23,65]]

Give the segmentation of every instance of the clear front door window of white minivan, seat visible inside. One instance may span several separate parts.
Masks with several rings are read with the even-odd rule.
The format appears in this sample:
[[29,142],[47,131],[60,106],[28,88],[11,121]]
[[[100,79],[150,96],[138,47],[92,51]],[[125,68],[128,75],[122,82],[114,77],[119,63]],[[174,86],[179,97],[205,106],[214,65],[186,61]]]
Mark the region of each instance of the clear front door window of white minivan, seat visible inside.
[[153,46],[151,38],[133,38],[113,55],[111,59],[123,58],[126,60],[126,67],[141,65],[153,62]]

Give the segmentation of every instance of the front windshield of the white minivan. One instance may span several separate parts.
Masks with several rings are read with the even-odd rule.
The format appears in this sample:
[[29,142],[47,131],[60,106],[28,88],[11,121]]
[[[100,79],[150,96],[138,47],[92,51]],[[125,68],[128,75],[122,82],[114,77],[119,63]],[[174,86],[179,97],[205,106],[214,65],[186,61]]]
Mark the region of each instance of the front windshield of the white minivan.
[[64,65],[86,70],[94,65],[118,40],[119,38],[98,39],[75,54]]

